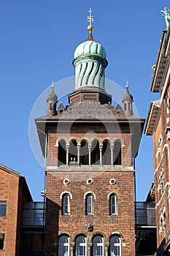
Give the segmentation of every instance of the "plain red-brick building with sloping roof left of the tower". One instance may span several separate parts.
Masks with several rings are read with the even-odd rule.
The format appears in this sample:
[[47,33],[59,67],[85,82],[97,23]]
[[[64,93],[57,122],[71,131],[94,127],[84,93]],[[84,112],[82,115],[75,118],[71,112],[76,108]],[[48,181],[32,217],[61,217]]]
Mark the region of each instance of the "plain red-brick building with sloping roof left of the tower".
[[0,165],[0,255],[20,255],[23,204],[32,197],[26,179]]

